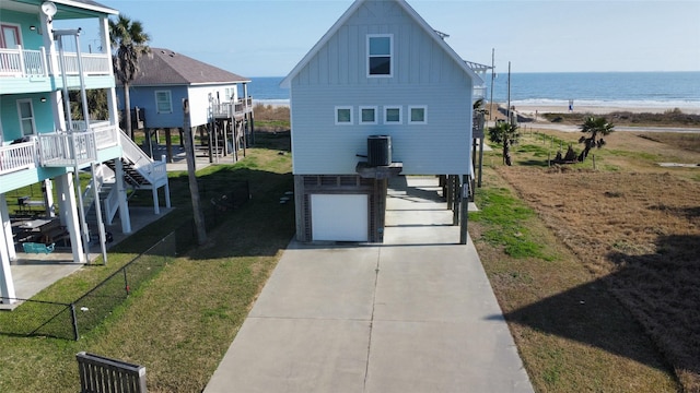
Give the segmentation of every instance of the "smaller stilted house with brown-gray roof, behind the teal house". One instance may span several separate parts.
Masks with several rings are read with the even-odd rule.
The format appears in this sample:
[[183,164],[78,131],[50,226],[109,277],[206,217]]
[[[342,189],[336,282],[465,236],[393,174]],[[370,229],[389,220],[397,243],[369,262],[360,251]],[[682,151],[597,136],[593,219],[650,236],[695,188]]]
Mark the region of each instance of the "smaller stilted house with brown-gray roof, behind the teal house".
[[[253,129],[248,83],[248,78],[171,49],[151,48],[139,60],[139,72],[129,83],[132,119],[139,108],[139,122],[133,127],[164,130],[167,139],[171,129],[183,128],[183,100],[187,99],[189,127],[214,124],[213,138],[236,141],[233,146],[244,144]],[[124,87],[117,85],[118,106],[124,110]]]

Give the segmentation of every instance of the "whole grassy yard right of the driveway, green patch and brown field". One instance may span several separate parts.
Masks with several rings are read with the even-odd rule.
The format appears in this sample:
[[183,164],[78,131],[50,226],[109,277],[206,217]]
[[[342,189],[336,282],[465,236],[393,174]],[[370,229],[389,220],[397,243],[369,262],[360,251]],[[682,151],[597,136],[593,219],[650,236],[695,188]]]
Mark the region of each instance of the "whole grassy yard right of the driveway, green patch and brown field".
[[[485,159],[470,235],[539,392],[700,390],[698,135],[616,132],[548,167],[580,133],[525,134]],[[553,143],[551,142],[553,138]]]

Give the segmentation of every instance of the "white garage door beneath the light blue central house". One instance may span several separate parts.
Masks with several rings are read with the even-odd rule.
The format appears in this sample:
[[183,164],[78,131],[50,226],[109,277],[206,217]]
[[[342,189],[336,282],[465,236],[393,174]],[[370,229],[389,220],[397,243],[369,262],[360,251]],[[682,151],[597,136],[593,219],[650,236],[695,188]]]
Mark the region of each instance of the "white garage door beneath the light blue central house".
[[313,240],[368,241],[368,195],[311,195]]

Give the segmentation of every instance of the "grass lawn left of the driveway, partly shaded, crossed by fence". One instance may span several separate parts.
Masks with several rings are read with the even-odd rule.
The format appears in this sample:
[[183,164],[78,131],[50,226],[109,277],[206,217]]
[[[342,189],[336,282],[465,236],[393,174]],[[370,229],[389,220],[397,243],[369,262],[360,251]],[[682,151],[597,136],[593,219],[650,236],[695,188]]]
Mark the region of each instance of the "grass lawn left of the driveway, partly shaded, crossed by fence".
[[[71,342],[0,335],[0,392],[70,392],[79,388],[74,355],[86,350],[147,367],[150,392],[199,392],[215,370],[257,294],[293,236],[289,134],[258,134],[257,146],[235,165],[198,172],[214,194],[247,180],[252,200],[219,217],[208,241],[168,263],[97,329]],[[38,298],[74,299],[133,255],[191,217],[186,174],[172,174],[175,212],[131,236],[109,253],[107,266],[90,266]],[[0,324],[21,312],[0,313]]]

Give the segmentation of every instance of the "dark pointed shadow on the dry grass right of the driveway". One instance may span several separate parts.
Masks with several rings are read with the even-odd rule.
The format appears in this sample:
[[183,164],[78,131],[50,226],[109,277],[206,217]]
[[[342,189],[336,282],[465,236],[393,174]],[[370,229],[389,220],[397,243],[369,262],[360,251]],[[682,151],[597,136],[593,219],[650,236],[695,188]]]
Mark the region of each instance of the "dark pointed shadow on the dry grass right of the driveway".
[[[698,216],[695,209],[678,213]],[[698,391],[698,236],[662,236],[655,253],[610,253],[617,272],[504,317],[660,370],[672,367],[686,390]]]

